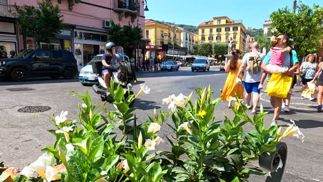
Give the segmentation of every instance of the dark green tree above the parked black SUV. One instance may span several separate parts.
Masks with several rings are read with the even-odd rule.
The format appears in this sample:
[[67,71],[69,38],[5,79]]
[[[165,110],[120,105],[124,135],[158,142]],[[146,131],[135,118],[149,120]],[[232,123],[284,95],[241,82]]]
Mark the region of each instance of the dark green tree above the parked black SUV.
[[63,28],[63,15],[59,6],[51,2],[39,2],[39,9],[34,6],[16,6],[17,20],[24,35],[34,37],[40,48],[41,42],[48,42]]

